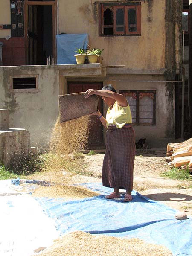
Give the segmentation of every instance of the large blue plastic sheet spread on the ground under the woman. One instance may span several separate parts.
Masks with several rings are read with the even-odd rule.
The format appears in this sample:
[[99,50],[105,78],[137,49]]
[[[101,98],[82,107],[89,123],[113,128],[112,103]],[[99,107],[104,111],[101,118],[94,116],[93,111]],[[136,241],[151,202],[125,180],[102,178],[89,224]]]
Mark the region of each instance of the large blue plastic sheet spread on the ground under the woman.
[[81,230],[124,238],[138,238],[153,244],[165,245],[174,256],[192,255],[192,218],[175,219],[175,209],[132,192],[133,200],[108,200],[105,195],[113,189],[101,183],[81,186],[102,195],[82,200],[37,198],[62,233]]

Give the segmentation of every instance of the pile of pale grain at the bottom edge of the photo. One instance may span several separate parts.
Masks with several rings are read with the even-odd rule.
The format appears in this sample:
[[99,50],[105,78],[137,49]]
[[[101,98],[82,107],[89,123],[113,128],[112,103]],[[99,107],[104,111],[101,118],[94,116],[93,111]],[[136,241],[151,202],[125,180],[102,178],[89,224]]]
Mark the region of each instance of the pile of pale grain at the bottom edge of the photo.
[[94,236],[76,231],[55,240],[41,256],[172,256],[172,253],[164,246],[139,239]]

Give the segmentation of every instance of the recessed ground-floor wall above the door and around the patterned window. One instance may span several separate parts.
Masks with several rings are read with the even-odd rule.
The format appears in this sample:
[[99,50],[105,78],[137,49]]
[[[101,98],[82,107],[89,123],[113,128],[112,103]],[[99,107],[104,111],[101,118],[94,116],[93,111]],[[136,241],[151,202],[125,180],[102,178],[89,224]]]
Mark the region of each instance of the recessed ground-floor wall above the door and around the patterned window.
[[[155,90],[156,91],[156,124],[155,125],[134,125],[136,141],[146,138],[149,147],[166,147],[167,143],[172,143],[174,139],[175,123],[175,87],[172,83],[165,83],[163,75],[111,75],[100,78],[68,78],[67,81],[99,81],[112,84],[119,90]],[[66,81],[66,83],[67,83]],[[142,82],[137,82],[142,81]],[[150,81],[150,82],[148,82]],[[162,82],[154,82],[162,81]],[[104,105],[104,116],[107,111]]]

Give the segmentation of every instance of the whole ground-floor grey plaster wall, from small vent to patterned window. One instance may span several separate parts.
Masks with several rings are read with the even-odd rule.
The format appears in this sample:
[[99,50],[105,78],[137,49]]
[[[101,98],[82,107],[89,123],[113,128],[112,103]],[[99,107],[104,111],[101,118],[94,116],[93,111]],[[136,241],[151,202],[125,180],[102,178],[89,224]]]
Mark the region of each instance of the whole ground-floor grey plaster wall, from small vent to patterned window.
[[[104,85],[113,84],[117,91],[156,90],[156,124],[135,125],[136,140],[145,137],[150,147],[164,147],[174,141],[175,88],[172,83],[163,82],[163,75],[113,75],[108,71],[110,74],[106,76],[100,64],[90,64],[92,75],[86,77],[90,73],[87,65],[82,64],[82,68],[79,65],[0,67],[0,108],[9,109],[9,127],[27,129],[31,145],[46,149],[58,118],[58,95],[68,93],[67,81],[100,81]],[[12,92],[10,78],[15,75],[38,76],[39,92]],[[104,114],[106,110],[105,106]]]

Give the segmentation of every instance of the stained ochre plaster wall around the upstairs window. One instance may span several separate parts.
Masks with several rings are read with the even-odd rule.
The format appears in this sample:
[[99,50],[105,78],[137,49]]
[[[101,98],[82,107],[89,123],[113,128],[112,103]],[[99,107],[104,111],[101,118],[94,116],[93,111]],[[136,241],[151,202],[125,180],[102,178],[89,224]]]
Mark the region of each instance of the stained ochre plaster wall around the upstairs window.
[[104,65],[126,65],[133,70],[165,67],[165,0],[141,3],[141,36],[115,37],[98,36],[98,4],[94,2],[76,0],[72,5],[70,1],[58,0],[58,34],[89,34],[92,48],[105,48]]

